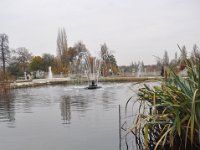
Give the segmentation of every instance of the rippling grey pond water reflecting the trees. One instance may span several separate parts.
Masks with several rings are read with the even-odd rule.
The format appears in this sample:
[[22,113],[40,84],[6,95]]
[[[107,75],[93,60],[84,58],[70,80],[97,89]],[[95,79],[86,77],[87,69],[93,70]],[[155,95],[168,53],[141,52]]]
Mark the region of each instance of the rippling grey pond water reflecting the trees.
[[96,90],[86,85],[16,89],[0,99],[3,150],[117,150],[119,104],[134,93],[130,83]]

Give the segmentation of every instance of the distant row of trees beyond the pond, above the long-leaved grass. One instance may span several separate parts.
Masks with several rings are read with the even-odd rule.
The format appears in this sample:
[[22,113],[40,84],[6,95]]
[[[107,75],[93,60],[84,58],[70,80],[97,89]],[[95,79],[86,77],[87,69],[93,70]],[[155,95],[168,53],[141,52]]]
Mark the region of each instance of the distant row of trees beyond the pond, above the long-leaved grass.
[[191,60],[192,62],[196,61],[196,58],[200,58],[200,50],[199,47],[194,44],[191,51],[188,51],[186,46],[179,46],[177,45],[177,49],[180,51],[178,55],[177,52],[174,53],[174,57],[170,59],[168,51],[165,50],[163,56],[154,56],[155,57],[155,64],[153,65],[144,65],[143,61],[138,62],[131,62],[130,65],[127,66],[119,66],[120,70],[124,73],[136,73],[138,71],[139,65],[142,66],[142,72],[160,72],[160,75],[164,75],[164,68],[171,68],[175,72],[180,72],[185,69],[185,61],[186,59]]

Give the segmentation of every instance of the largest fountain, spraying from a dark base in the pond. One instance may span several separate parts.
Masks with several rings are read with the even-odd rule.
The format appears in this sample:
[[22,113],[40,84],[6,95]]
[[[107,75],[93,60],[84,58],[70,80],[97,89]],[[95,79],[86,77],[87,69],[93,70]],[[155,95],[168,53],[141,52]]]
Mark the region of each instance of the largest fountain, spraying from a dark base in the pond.
[[81,52],[80,58],[83,66],[85,67],[85,73],[88,79],[87,89],[97,89],[98,79],[101,70],[102,59],[92,57],[88,52]]

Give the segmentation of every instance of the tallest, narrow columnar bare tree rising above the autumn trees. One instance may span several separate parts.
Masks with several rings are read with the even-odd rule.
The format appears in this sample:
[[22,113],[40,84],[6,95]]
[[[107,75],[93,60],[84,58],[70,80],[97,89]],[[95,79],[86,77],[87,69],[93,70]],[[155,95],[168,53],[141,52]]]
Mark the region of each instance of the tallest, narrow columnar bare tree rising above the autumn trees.
[[67,59],[67,35],[65,29],[58,30],[58,37],[57,37],[57,56],[61,63],[65,63]]

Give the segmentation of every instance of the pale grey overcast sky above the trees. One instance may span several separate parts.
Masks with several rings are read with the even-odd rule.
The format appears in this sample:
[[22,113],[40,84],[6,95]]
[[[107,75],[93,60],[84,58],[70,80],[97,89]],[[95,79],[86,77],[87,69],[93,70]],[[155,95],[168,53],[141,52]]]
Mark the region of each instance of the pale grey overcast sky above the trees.
[[56,54],[58,28],[68,45],[81,40],[93,55],[106,43],[119,65],[153,55],[170,58],[177,43],[200,46],[200,0],[0,0],[0,33],[10,47]]

